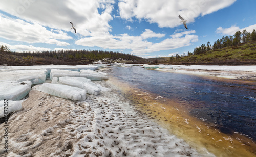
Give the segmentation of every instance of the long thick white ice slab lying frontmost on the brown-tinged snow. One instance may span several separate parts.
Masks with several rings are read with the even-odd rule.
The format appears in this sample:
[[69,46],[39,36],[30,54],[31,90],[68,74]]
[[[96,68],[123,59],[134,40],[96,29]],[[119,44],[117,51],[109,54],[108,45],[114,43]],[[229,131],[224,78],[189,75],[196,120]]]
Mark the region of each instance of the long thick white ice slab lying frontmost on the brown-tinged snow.
[[85,100],[86,90],[61,84],[44,83],[35,88],[38,91],[45,92],[57,97],[71,100]]

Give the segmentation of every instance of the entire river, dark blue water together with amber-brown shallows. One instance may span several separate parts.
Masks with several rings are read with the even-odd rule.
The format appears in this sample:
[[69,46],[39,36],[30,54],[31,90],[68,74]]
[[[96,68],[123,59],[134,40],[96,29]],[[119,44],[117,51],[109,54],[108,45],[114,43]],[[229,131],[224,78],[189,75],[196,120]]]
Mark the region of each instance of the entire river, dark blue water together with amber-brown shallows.
[[[137,72],[141,73],[141,68],[113,68],[113,74],[110,78],[110,82],[118,86],[123,94],[130,99],[133,104],[137,107],[137,109],[141,112],[146,113],[153,121],[159,123],[162,127],[169,130],[170,133],[175,134],[176,136],[183,138],[186,142],[190,144],[191,147],[196,148],[198,151],[202,153],[206,153],[207,151],[214,153],[216,156],[256,156],[256,144],[250,136],[246,136],[246,130],[248,133],[252,133],[253,135],[253,127],[255,127],[255,119],[251,118],[251,127],[248,127],[246,123],[243,122],[243,119],[240,120],[239,127],[246,127],[246,129],[233,129],[238,124],[237,121],[232,122],[234,112],[236,111],[239,115],[243,115],[245,113],[241,113],[240,110],[242,107],[236,110],[230,110],[226,113],[225,110],[230,108],[230,106],[226,106],[225,109],[221,109],[219,113],[216,113],[216,106],[220,106],[223,104],[223,93],[226,96],[229,94],[233,94],[232,91],[228,93],[224,85],[238,86],[234,85],[237,83],[228,83],[229,81],[217,81],[222,82],[222,84],[217,84],[216,80],[208,80],[207,79],[198,79],[196,81],[193,80],[193,76],[180,75],[174,76],[168,73],[162,73],[154,70],[145,70],[144,72],[147,76],[148,73],[153,73],[151,76],[153,77],[145,77],[144,74],[138,75]],[[124,73],[125,72],[125,73]],[[129,73],[130,72],[130,73]],[[168,92],[165,88],[158,86],[157,84],[150,83],[148,80],[153,80],[155,82],[157,79],[165,77],[164,80],[167,80],[166,77],[173,77],[173,84],[171,89],[175,89],[175,92]],[[162,77],[160,77],[162,76]],[[183,76],[183,77],[182,77]],[[122,77],[124,79],[122,79]],[[134,79],[135,77],[135,79]],[[128,79],[127,79],[128,78]],[[192,78],[192,79],[191,79]],[[166,82],[161,80],[162,85]],[[189,80],[189,82],[188,82]],[[211,84],[211,83],[215,84]],[[170,84],[170,82],[168,82]],[[181,85],[183,84],[183,86]],[[194,91],[200,92],[189,92],[187,91],[187,86],[189,83],[189,87],[194,86],[203,86],[208,91],[207,94],[198,94],[202,91],[200,89],[193,89]],[[159,82],[158,82],[159,84]],[[239,83],[241,84],[241,82]],[[249,90],[253,88],[253,86],[239,85],[242,90]],[[166,85],[166,84],[165,84]],[[186,86],[187,85],[187,86]],[[148,88],[143,88],[149,86]],[[177,91],[177,87],[179,91]],[[216,90],[216,87],[220,88],[223,86],[224,91],[212,92]],[[243,87],[241,87],[243,86]],[[183,89],[182,89],[183,88]],[[233,88],[233,87],[230,87]],[[245,89],[243,89],[245,88]],[[170,88],[167,88],[170,89]],[[241,93],[241,91],[236,91],[237,93]],[[246,93],[247,92],[247,93]],[[252,89],[253,92],[253,89]],[[162,94],[164,93],[164,94]],[[184,94],[185,93],[185,94]],[[189,94],[190,93],[190,94]],[[243,92],[242,92],[243,93]],[[224,95],[225,95],[224,94]],[[253,94],[253,93],[252,93]],[[167,95],[167,96],[166,96]],[[197,97],[197,95],[199,95]],[[235,94],[233,94],[235,95]],[[205,97],[204,97],[205,96]],[[236,95],[237,99],[240,95]],[[206,98],[207,97],[207,98]],[[213,103],[211,99],[215,97],[218,98],[217,101],[220,103]],[[224,96],[225,97],[225,96]],[[229,98],[229,96],[227,96]],[[243,93],[243,97],[253,97],[248,95],[248,91]],[[248,100],[244,99],[244,100]],[[249,99],[250,100],[250,99]],[[234,100],[229,100],[233,103]],[[253,104],[253,98],[251,99]],[[228,103],[228,102],[226,102]],[[244,103],[238,101],[238,103]],[[235,104],[233,104],[235,105]],[[243,108],[245,108],[246,104],[242,104]],[[248,104],[247,104],[248,105]],[[210,107],[207,107],[210,106]],[[237,106],[239,106],[237,104]],[[219,107],[219,108],[222,108]],[[251,107],[251,110],[254,108]],[[254,111],[252,111],[254,112]],[[211,116],[204,116],[207,113],[216,113],[211,114]],[[231,114],[230,114],[231,113]],[[232,114],[233,113],[233,114]],[[220,115],[216,116],[216,115]],[[227,115],[228,114],[228,115]],[[249,115],[251,113],[248,113]],[[247,115],[248,116],[248,115]],[[255,116],[255,115],[254,115]],[[217,118],[216,118],[217,117]],[[242,116],[243,118],[243,116]],[[230,120],[231,119],[231,120]],[[247,120],[248,117],[244,118],[244,121]],[[221,121],[222,120],[222,121]],[[249,119],[250,120],[250,119]],[[222,124],[221,124],[222,123]],[[232,126],[234,125],[234,126]],[[227,127],[228,126],[228,127]],[[232,126],[232,127],[229,127]],[[255,133],[254,133],[255,134]],[[207,150],[206,150],[207,149]]]

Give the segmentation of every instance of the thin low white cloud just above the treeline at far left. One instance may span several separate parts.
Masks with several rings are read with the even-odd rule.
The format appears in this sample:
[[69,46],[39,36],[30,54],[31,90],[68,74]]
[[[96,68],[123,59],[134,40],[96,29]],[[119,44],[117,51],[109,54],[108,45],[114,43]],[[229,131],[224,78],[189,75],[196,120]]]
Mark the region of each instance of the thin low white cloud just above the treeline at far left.
[[0,42],[0,45],[7,46],[11,51],[23,52],[23,51],[50,51],[50,48],[34,47],[32,45],[10,45],[7,43]]

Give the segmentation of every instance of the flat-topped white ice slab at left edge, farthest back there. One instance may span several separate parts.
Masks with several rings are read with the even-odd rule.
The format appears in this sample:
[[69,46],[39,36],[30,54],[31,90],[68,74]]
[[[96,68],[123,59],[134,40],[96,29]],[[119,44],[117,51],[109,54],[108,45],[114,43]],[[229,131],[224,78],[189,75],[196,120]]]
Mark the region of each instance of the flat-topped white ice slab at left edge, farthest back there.
[[32,84],[44,83],[47,79],[47,70],[14,70],[0,71],[0,81],[14,80],[17,82],[31,81]]

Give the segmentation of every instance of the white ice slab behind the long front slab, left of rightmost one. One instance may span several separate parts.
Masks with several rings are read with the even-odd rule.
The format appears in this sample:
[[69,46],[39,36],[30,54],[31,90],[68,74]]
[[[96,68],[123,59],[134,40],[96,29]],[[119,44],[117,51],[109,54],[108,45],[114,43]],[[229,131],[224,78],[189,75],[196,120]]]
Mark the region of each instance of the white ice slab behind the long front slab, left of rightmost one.
[[70,70],[59,70],[59,69],[52,69],[51,73],[50,73],[50,79],[52,80],[53,77],[65,77],[65,76],[69,76],[69,77],[79,77],[80,76],[80,72],[78,71],[70,71]]

